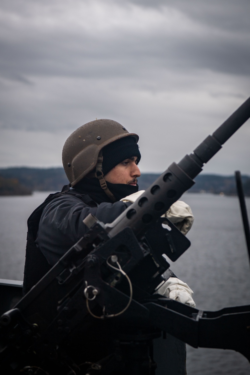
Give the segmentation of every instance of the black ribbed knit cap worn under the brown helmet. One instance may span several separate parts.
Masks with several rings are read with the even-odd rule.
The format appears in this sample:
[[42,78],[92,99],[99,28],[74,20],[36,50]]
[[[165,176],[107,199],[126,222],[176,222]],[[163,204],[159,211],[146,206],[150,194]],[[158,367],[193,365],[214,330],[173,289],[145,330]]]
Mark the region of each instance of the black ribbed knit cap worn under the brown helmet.
[[103,175],[107,174],[117,164],[123,160],[137,156],[136,163],[138,164],[141,159],[138,144],[134,137],[124,137],[106,145],[102,150],[103,162],[102,171]]

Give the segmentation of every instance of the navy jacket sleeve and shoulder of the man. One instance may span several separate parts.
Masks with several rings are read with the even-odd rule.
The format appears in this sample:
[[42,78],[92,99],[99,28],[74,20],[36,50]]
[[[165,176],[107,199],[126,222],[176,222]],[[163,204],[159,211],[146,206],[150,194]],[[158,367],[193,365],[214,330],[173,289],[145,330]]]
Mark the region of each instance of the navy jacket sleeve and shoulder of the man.
[[51,266],[88,230],[82,222],[91,213],[103,223],[114,221],[131,203],[103,202],[90,207],[73,194],[53,199],[43,210],[36,245]]

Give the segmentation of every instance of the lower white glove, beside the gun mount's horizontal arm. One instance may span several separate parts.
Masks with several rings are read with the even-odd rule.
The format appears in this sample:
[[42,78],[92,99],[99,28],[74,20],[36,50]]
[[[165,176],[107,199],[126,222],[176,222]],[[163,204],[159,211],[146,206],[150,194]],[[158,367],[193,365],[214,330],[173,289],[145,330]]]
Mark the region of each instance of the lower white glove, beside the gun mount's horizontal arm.
[[169,278],[157,289],[156,293],[195,308],[195,302],[192,299],[192,289],[185,282],[177,278]]

